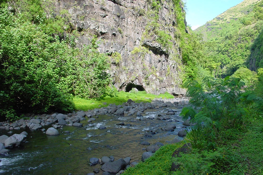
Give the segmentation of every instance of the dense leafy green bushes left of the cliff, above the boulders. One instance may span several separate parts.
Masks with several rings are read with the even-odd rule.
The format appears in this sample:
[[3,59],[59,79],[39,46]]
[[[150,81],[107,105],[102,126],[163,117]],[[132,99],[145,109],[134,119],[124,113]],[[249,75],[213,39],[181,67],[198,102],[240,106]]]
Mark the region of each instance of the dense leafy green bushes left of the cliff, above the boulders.
[[[24,0],[13,7],[1,3],[3,117],[14,119],[16,114],[28,111],[70,111],[74,108],[72,95],[100,98],[112,91],[106,73],[108,56],[98,52],[96,38],[89,46],[75,48],[74,31],[65,31],[65,12],[47,18],[47,2]],[[63,37],[61,32],[67,32],[67,36]]]

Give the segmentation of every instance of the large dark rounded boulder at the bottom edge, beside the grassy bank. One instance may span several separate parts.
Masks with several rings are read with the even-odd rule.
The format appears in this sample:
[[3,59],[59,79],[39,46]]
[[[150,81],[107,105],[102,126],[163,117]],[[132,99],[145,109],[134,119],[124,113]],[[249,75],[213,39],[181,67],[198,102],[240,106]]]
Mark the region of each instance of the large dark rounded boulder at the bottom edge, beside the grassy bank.
[[119,159],[114,162],[106,162],[102,165],[101,169],[109,173],[118,173],[126,167],[126,162],[123,159]]

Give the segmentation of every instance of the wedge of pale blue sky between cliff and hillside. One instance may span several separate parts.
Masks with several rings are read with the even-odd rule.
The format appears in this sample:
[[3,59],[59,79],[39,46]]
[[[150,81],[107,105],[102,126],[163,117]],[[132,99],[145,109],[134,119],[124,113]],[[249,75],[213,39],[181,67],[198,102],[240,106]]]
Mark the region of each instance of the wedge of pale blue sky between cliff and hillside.
[[184,0],[186,22],[196,29],[243,0]]

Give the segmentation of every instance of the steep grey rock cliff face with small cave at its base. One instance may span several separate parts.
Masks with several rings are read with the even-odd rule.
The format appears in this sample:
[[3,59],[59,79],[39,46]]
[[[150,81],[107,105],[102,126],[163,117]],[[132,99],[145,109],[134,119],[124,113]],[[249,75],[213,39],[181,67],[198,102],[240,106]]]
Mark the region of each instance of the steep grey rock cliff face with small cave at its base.
[[109,73],[117,89],[185,94],[179,88],[178,38],[186,28],[179,0],[56,1],[55,12],[62,10],[79,34],[77,47],[98,36],[100,52],[111,56]]

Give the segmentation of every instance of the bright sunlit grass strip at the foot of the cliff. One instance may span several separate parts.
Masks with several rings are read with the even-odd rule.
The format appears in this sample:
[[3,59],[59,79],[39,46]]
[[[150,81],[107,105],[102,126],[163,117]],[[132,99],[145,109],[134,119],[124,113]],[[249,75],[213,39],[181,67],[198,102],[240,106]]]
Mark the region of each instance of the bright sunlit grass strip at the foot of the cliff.
[[[75,104],[75,108],[77,110],[88,111],[89,109],[99,108],[99,107],[107,107],[110,103],[114,103],[116,105],[122,104],[127,102],[128,99],[132,99],[135,102],[151,102],[155,98],[174,98],[173,95],[169,93],[164,93],[160,95],[148,94],[145,91],[139,91],[137,93],[129,93],[121,91],[119,92],[117,97],[105,97],[101,100],[96,99],[83,99],[74,97],[73,102]],[[148,98],[148,99],[147,99]],[[107,105],[103,103],[106,102]]]

